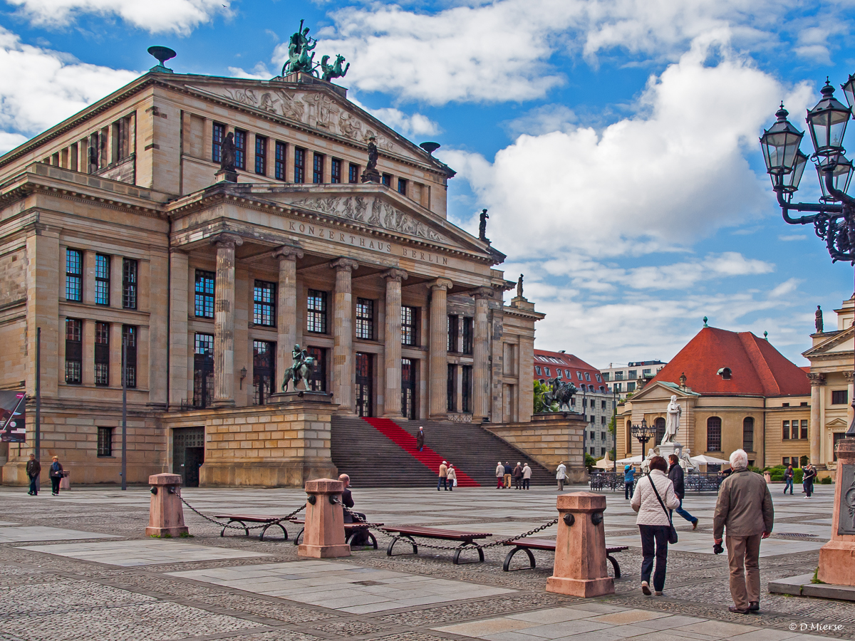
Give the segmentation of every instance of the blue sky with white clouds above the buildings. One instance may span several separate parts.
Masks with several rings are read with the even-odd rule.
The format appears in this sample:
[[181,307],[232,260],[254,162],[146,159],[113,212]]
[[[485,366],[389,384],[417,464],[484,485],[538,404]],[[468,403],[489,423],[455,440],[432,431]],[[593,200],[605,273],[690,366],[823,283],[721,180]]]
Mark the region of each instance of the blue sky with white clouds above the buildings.
[[[805,5],[0,0],[0,151],[143,73],[151,44],[179,73],[268,79],[305,19],[351,62],[351,99],[442,144],[451,220],[475,231],[490,209],[508,278],[547,314],[539,347],[668,360],[706,315],[802,365],[852,267],[781,221],[757,138],[781,100],[804,128],[825,77],[855,73],[855,0]],[[806,170],[797,196],[817,189]]]

